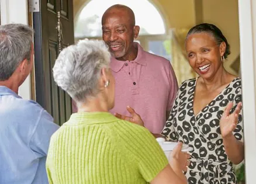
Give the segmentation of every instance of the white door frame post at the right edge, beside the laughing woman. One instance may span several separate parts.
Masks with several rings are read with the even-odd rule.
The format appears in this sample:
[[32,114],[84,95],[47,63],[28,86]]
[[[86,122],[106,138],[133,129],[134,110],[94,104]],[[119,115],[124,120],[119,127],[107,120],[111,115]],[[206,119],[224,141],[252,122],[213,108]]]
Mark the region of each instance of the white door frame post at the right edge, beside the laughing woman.
[[240,65],[243,89],[243,118],[245,142],[245,178],[255,184],[256,166],[256,1],[238,0],[240,29]]

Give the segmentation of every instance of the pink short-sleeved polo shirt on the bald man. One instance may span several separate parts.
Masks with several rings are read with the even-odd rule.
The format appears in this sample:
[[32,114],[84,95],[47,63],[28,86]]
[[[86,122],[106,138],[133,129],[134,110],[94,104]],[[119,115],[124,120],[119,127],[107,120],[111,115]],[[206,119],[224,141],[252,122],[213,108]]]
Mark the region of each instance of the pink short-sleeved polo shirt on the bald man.
[[134,61],[112,57],[110,68],[116,89],[115,107],[110,112],[130,116],[126,110],[129,105],[140,114],[148,130],[160,134],[178,91],[177,79],[168,60],[144,51],[140,44],[137,47]]

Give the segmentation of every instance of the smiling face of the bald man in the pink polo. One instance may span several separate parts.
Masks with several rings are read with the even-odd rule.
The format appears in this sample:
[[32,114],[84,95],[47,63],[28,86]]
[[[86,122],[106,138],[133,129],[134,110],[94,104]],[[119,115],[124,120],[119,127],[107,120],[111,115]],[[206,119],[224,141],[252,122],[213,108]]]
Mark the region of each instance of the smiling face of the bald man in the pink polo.
[[139,34],[139,26],[134,26],[133,16],[127,9],[112,8],[102,17],[102,38],[117,60],[134,60],[137,48],[133,40]]

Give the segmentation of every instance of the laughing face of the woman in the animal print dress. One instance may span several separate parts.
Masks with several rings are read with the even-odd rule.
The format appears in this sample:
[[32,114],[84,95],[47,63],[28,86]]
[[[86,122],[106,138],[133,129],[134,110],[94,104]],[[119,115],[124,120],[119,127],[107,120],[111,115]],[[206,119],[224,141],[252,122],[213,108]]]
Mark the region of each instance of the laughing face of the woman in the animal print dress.
[[211,79],[222,71],[224,42],[218,46],[210,33],[192,33],[187,37],[185,47],[189,64],[200,77]]

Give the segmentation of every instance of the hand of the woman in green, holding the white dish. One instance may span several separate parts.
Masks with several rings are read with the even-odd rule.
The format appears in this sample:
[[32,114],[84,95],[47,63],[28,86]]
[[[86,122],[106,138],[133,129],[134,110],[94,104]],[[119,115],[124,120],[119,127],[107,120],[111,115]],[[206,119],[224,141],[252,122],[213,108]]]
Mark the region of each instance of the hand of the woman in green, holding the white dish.
[[[190,155],[186,152],[182,152],[182,143],[178,143],[175,146],[174,150],[172,150],[171,154],[169,155],[169,164],[171,165],[172,169],[178,169],[177,167],[181,168],[183,171],[187,170],[186,166],[189,166],[188,159]],[[175,168],[174,168],[175,167]]]

